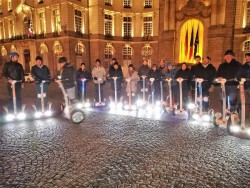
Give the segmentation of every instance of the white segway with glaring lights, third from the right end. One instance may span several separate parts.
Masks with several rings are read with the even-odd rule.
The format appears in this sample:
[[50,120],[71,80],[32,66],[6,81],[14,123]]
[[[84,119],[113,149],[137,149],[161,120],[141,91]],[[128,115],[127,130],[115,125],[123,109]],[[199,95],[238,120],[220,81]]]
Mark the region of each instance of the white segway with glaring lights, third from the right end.
[[[208,96],[203,96],[202,94],[202,83],[204,81],[207,80],[204,80],[202,78],[195,79],[195,104],[189,104],[188,108],[190,110],[189,114],[193,120],[210,122],[211,120],[213,120],[214,112],[213,110],[209,110],[208,112],[203,111],[203,102],[208,102],[209,100]],[[197,87],[199,88],[199,97]]]

